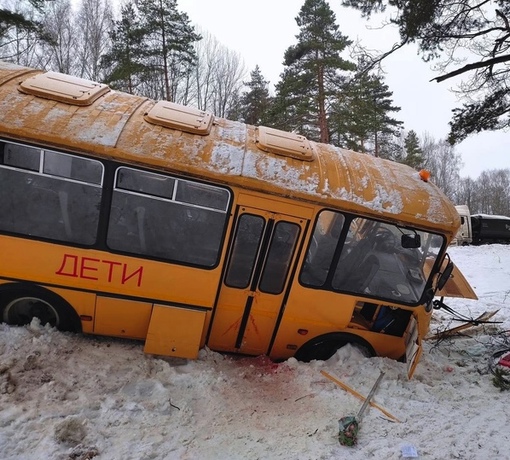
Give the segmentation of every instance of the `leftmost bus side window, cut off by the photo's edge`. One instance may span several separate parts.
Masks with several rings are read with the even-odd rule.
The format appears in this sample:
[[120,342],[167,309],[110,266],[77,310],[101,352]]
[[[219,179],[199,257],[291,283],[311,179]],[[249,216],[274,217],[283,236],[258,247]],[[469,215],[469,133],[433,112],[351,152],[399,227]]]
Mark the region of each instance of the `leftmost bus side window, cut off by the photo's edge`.
[[[94,183],[74,180],[75,162],[91,164]],[[57,241],[94,244],[102,165],[73,155],[4,144],[0,162],[0,229]]]

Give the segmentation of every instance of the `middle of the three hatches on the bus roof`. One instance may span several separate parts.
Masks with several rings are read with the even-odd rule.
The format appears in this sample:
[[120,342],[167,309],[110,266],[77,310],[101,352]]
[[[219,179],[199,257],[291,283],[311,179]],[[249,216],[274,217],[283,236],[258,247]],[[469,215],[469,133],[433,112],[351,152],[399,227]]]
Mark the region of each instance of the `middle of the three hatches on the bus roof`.
[[168,101],[157,102],[144,117],[149,123],[201,136],[210,133],[214,120],[211,113]]

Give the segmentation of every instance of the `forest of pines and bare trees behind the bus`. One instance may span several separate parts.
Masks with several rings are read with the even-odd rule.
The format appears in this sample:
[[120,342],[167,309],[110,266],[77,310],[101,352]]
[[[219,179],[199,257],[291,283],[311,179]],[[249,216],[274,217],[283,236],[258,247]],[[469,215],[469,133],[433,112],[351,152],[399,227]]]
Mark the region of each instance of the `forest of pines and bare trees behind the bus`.
[[[0,59],[426,168],[454,203],[510,216],[510,169],[463,178],[455,147],[473,133],[508,127],[508,3],[342,3],[365,17],[389,11],[401,38],[392,52],[417,43],[425,60],[439,61],[438,81],[470,73],[447,139],[406,130],[381,70],[384,56],[343,35],[325,0],[303,0],[274,91],[258,66],[248,71],[242,56],[192,25],[178,0],[127,0],[118,11],[109,0],[2,0]],[[462,67],[459,50],[479,60]]]

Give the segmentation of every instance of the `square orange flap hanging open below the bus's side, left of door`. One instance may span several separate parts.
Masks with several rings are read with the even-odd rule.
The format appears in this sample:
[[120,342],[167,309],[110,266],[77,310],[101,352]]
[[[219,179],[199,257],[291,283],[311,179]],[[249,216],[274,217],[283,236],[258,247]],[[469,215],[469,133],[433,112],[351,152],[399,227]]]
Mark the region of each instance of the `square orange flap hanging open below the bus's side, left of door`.
[[205,310],[154,305],[143,351],[196,359],[205,323]]

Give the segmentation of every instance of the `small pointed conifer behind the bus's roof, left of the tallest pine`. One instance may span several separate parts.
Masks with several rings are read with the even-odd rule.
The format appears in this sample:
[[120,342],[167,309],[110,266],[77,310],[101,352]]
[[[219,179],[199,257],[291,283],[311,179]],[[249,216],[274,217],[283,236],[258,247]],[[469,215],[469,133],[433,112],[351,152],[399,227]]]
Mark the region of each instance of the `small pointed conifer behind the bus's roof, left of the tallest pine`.
[[248,91],[243,92],[240,100],[240,118],[250,125],[266,124],[268,110],[271,104],[268,81],[264,80],[264,76],[259,66],[250,73],[251,80],[244,82],[248,87]]

